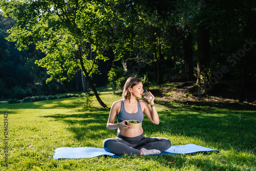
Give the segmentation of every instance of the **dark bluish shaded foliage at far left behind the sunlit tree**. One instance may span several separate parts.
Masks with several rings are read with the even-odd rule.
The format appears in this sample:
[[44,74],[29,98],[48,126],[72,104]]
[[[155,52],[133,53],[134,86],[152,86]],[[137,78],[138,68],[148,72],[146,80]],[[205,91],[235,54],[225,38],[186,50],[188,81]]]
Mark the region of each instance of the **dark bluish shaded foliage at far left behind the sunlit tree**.
[[[15,23],[13,18],[5,17],[0,12],[0,95],[5,98],[22,99],[41,90],[39,85],[46,78],[42,79],[43,69],[36,66],[34,61],[44,54],[37,50],[34,44],[28,46],[27,50],[18,51],[14,42],[8,42],[7,30]],[[34,89],[28,89],[28,85],[32,85]]]

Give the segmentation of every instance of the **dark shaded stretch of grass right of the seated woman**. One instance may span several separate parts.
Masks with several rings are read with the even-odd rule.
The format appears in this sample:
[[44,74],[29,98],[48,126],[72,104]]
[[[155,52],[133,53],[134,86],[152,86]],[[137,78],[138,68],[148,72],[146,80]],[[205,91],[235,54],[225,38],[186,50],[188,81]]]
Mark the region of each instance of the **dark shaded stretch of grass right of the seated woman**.
[[[256,146],[253,105],[204,102],[165,106],[168,109],[159,112],[159,132],[193,138],[218,149],[251,151]],[[150,131],[150,127],[147,130]],[[179,144],[178,139],[175,144]]]

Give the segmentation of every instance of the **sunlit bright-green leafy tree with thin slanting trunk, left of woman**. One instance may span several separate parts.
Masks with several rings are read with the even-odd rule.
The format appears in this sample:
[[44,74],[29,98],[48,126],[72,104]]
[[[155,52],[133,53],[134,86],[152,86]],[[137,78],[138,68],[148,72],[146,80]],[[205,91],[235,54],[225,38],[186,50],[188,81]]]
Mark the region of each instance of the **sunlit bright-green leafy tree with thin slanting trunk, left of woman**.
[[[16,25],[9,30],[8,40],[16,41],[19,50],[34,42],[46,54],[37,64],[51,74],[47,81],[70,80],[82,69],[98,102],[106,107],[90,75],[98,71],[97,60],[107,60],[103,52],[106,47],[104,34],[112,16],[109,2],[16,0],[1,1],[1,7],[6,16],[16,20]],[[87,58],[90,48],[92,60]]]

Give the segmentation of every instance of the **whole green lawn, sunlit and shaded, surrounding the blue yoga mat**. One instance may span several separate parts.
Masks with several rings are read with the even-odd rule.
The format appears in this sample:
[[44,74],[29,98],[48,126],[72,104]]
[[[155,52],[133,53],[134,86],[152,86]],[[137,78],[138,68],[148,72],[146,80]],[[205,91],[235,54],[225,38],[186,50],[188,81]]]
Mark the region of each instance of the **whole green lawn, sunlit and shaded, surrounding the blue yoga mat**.
[[[155,91],[157,88],[155,88]],[[111,107],[120,93],[102,93]],[[102,147],[117,130],[105,125],[109,109],[84,108],[82,97],[28,103],[0,103],[0,137],[4,137],[4,111],[8,112],[8,167],[4,166],[1,141],[1,170],[256,170],[256,120],[253,106],[220,103],[156,101],[160,124],[144,118],[146,137],[165,137],[172,145],[194,143],[220,153],[96,157],[53,160],[57,147]]]

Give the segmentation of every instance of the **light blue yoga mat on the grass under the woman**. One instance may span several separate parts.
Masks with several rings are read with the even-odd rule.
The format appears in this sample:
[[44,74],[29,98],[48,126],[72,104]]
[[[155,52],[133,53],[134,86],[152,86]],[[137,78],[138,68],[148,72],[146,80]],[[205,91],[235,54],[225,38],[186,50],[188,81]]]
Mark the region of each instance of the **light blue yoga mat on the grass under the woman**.
[[[175,154],[190,154],[197,152],[211,152],[217,151],[215,149],[206,148],[196,144],[186,144],[186,145],[173,145],[166,151],[158,155],[175,155]],[[219,152],[219,151],[217,151]],[[111,157],[121,157],[113,153],[106,152],[104,148],[96,147],[59,147],[55,149],[53,159],[80,159],[80,158],[93,158],[97,156],[111,156]]]

